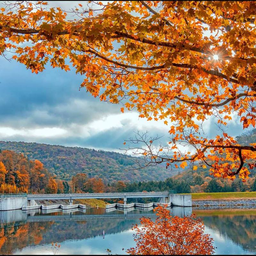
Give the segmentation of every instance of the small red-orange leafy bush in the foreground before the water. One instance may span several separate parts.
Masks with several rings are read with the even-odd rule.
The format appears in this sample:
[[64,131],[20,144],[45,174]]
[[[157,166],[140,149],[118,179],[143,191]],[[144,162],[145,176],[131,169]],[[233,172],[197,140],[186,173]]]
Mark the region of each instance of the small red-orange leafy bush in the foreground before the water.
[[172,217],[165,207],[158,206],[156,221],[141,218],[141,228],[136,224],[132,230],[136,247],[127,250],[131,255],[191,255],[213,254],[213,239],[204,234],[204,224],[196,219],[196,214],[189,217]]

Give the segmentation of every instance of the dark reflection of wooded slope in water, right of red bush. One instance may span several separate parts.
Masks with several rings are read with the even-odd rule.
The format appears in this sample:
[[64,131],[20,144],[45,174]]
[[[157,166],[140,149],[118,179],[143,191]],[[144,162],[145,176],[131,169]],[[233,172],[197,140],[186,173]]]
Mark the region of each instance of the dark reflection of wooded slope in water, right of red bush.
[[256,239],[256,215],[244,214],[234,215],[232,212],[215,216],[200,216],[200,211],[196,211],[198,217],[203,217],[205,226],[219,231],[221,235],[228,236],[234,243],[240,244],[245,250],[255,252]]

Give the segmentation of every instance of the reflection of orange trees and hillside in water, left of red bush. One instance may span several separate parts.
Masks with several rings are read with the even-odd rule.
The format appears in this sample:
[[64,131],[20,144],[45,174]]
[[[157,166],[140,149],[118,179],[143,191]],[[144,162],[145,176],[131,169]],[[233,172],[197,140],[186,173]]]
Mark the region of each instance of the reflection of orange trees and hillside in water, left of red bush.
[[[101,209],[99,210],[101,211]],[[135,212],[137,211],[135,210]],[[100,212],[97,213],[100,214]],[[49,214],[52,216],[52,221],[1,224],[0,254],[12,254],[15,250],[21,250],[26,246],[50,244],[52,241],[61,243],[68,239],[86,239],[102,235],[103,230],[106,235],[118,233],[130,229],[135,223],[139,223],[139,217],[125,218],[123,214],[116,214],[115,218],[109,219],[54,221],[56,214],[61,215],[63,213]],[[142,215],[147,216],[147,213]]]

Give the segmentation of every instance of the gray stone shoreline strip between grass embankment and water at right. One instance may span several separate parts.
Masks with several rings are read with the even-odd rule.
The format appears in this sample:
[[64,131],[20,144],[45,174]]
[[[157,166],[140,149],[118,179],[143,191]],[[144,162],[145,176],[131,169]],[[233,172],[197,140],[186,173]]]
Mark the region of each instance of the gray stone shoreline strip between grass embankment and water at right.
[[192,206],[256,205],[256,199],[192,200]]

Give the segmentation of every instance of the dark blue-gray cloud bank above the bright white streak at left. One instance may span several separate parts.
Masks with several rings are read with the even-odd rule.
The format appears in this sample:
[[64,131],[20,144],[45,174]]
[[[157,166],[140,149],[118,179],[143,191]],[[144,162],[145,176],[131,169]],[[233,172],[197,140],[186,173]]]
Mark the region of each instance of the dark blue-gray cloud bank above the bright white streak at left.
[[47,67],[36,75],[15,61],[0,59],[0,63],[2,126],[86,124],[101,115],[120,113],[119,106],[100,102],[84,88],[79,91],[83,78],[74,70]]

